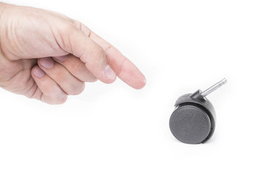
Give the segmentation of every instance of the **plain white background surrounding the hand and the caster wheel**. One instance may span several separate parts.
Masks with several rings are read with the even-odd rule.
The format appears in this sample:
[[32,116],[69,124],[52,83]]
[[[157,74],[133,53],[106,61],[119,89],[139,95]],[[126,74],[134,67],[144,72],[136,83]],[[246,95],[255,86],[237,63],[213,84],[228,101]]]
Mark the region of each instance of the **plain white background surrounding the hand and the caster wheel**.
[[[0,90],[0,170],[255,170],[255,1],[9,0],[58,11],[111,42],[147,78],[88,83],[63,105]],[[222,78],[203,145],[175,140],[175,100]]]

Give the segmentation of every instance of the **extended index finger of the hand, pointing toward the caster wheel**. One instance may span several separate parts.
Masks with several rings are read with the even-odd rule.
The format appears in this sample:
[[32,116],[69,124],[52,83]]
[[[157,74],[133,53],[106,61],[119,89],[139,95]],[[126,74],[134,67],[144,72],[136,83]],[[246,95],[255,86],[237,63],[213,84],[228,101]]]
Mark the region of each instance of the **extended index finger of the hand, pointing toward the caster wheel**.
[[83,24],[79,23],[79,28],[103,48],[108,64],[123,82],[135,89],[145,86],[145,76],[126,56]]

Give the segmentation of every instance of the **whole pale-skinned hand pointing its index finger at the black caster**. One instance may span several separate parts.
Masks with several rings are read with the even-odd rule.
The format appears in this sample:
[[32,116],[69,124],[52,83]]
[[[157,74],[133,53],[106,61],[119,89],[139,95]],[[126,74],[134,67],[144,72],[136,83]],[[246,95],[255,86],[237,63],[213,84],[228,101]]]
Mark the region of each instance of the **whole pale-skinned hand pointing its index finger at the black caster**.
[[145,76],[81,22],[53,11],[0,3],[0,87],[49,104],[85,82],[145,86]]

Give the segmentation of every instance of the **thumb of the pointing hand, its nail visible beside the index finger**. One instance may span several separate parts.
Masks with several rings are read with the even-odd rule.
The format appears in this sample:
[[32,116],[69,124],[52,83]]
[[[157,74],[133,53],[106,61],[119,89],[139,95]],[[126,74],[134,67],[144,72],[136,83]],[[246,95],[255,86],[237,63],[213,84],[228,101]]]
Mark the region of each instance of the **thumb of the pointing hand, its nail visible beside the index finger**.
[[113,83],[116,80],[116,73],[108,65],[106,53],[101,46],[86,36],[76,26],[68,28],[61,40],[63,41],[63,50],[72,53],[85,63],[86,68],[103,83]]

